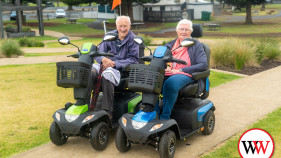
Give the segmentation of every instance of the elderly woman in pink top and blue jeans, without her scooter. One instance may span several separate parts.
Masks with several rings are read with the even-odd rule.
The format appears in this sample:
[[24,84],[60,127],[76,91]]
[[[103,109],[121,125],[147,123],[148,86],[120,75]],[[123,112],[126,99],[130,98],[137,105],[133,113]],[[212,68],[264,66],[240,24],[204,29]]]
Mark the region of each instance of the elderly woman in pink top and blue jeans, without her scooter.
[[[167,43],[166,47],[170,50],[178,48],[180,43],[185,38],[191,38],[193,31],[192,22],[186,19],[181,20],[176,28],[178,38]],[[187,62],[187,65],[178,63],[169,63],[165,69],[165,82],[163,85],[163,110],[160,114],[160,108],[155,106],[160,119],[170,119],[171,111],[177,100],[179,90],[187,84],[194,81],[191,74],[194,72],[201,72],[208,69],[207,57],[204,52],[203,45],[196,41],[196,44],[191,47],[180,47],[173,52],[173,57]]]

